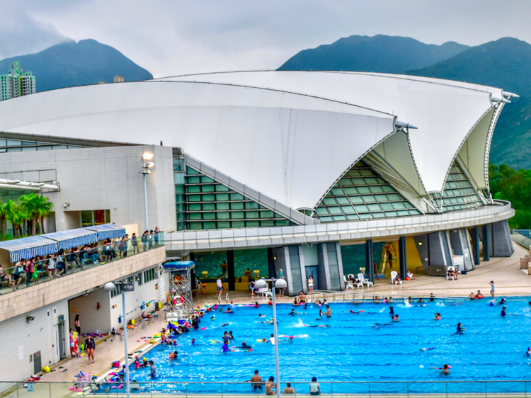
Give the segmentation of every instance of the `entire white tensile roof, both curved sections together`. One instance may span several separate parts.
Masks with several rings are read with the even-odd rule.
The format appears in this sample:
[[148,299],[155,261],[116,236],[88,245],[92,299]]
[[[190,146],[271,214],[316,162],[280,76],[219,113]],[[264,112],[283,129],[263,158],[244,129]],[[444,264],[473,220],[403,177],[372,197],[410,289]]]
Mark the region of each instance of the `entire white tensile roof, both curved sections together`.
[[[350,166],[391,137],[395,118],[418,129],[409,129],[411,153],[402,145],[399,154],[388,158],[413,158],[425,191],[441,191],[469,132],[492,110],[491,95],[501,98],[502,91],[387,74],[200,74],[2,101],[0,131],[138,144],[163,141],[299,209],[315,207]],[[488,130],[490,123],[483,125]],[[392,151],[389,147],[385,150]],[[485,145],[474,157],[488,157],[484,152]],[[395,163],[399,170],[399,161]],[[484,159],[476,164],[483,165]]]

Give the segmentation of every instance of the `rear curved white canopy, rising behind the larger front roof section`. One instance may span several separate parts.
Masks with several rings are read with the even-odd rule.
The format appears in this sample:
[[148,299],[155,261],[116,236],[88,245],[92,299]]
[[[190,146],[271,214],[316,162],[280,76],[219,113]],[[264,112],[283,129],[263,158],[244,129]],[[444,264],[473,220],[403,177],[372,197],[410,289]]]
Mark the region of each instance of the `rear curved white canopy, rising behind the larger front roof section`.
[[[357,72],[227,72],[158,81],[209,81],[267,87],[381,110],[418,127],[409,130],[411,155],[426,192],[442,191],[447,172],[472,128],[503,91],[478,84]],[[485,144],[485,143],[484,143]],[[396,154],[396,157],[408,156]],[[400,167],[399,164],[394,165]],[[416,181],[410,181],[413,185]]]

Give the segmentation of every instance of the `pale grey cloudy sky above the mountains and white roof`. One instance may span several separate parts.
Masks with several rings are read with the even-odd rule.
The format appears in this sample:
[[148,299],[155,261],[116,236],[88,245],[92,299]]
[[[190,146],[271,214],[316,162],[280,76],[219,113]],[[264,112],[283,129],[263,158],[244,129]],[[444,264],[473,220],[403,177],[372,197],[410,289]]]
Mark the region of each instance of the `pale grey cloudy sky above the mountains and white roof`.
[[350,35],[531,42],[530,17],[528,0],[18,0],[2,4],[0,59],[92,38],[156,77],[276,69]]

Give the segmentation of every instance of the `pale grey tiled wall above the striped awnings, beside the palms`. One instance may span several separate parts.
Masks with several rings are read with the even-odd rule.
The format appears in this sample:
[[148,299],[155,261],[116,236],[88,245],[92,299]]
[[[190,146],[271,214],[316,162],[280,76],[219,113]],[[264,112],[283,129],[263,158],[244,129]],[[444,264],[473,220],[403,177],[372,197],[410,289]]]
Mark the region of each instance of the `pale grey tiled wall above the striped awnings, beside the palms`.
[[[144,225],[142,153],[154,154],[147,176],[149,228]],[[57,181],[59,192],[44,193],[55,210],[57,230],[79,228],[81,210],[110,210],[118,225],[139,230],[176,229],[175,188],[171,147],[157,145],[8,152],[0,157],[0,178]],[[70,203],[64,207],[64,203]],[[51,225],[51,223],[50,223]]]

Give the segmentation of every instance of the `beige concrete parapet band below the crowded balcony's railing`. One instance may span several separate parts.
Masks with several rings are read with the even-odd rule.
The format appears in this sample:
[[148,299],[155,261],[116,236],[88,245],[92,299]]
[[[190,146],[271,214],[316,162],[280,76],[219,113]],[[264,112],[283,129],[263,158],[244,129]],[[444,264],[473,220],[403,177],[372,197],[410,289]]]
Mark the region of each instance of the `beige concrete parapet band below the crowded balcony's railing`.
[[6,293],[0,296],[0,322],[59,300],[75,297],[86,290],[103,286],[110,280],[120,280],[126,275],[162,263],[165,258],[166,251],[161,246],[74,275]]

